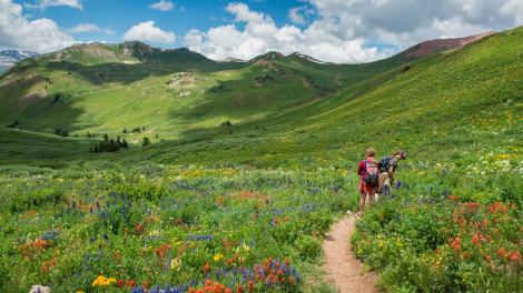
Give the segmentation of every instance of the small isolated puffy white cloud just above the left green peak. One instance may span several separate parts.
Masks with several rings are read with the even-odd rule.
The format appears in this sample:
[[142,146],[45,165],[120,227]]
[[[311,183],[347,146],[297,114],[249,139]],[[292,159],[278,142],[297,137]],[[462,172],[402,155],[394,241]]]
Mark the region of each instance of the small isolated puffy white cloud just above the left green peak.
[[155,27],[155,21],[149,20],[132,26],[124,34],[124,40],[172,44],[176,42],[176,34],[174,32],[164,31],[160,28]]

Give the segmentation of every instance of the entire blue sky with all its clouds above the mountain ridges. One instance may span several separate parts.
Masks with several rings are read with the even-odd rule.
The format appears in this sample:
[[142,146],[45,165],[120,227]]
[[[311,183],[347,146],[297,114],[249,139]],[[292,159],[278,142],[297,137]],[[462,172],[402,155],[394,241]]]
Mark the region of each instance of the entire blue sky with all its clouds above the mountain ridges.
[[523,24],[522,0],[0,0],[0,48],[138,40],[208,58],[300,52],[335,63]]

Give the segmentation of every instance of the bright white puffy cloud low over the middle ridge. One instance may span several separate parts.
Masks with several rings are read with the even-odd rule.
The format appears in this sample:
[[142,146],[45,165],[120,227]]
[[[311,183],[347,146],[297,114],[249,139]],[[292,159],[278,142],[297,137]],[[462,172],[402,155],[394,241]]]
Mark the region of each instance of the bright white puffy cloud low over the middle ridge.
[[277,27],[270,16],[253,11],[245,3],[230,3],[227,11],[244,24],[243,29],[231,23],[206,32],[191,30],[185,36],[188,48],[216,60],[246,60],[268,51],[302,52],[330,62],[364,62],[383,57],[377,48],[366,48],[364,39],[344,40],[315,23],[305,30],[290,24]]

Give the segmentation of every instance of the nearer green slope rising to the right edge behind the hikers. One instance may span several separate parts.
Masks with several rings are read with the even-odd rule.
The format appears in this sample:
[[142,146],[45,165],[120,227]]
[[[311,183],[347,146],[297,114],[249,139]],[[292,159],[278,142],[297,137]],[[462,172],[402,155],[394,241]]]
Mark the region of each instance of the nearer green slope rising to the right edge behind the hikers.
[[285,115],[233,128],[236,135],[218,139],[220,130],[209,130],[204,133],[211,141],[158,149],[167,149],[165,161],[286,164],[315,158],[307,159],[312,165],[352,160],[368,145],[379,153],[407,148],[431,160],[521,155],[522,70],[519,28],[420,60],[403,73],[378,74]]

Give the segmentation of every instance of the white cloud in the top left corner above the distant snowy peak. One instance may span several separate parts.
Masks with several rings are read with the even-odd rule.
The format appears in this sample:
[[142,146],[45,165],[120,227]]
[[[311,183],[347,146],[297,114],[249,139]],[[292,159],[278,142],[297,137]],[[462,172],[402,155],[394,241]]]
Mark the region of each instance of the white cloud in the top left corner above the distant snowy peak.
[[75,43],[50,19],[29,20],[20,4],[0,0],[0,47],[33,50],[40,53],[63,49]]

